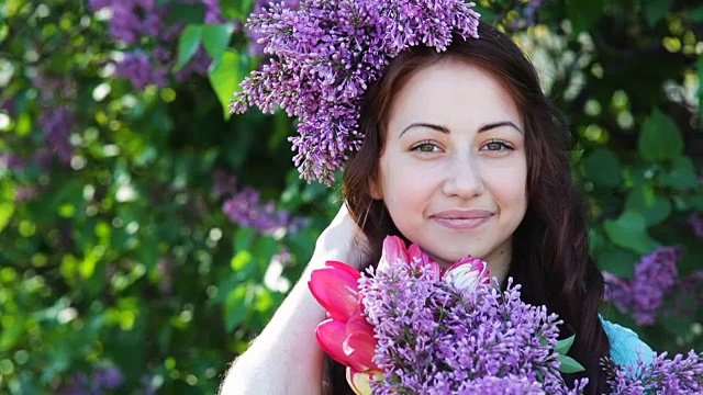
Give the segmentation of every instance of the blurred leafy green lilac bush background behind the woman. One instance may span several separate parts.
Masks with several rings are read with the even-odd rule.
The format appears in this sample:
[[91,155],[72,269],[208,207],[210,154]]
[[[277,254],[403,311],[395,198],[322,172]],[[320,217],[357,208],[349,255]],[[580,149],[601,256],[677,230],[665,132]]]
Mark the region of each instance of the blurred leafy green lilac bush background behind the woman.
[[[0,4],[0,392],[213,393],[300,275],[338,185],[298,179],[283,114],[225,111],[261,61],[242,27],[259,3],[158,0],[164,29],[127,41],[98,3],[112,2]],[[680,248],[654,324],[603,313],[656,350],[702,350],[703,7],[479,7],[571,124],[599,266],[633,279]]]

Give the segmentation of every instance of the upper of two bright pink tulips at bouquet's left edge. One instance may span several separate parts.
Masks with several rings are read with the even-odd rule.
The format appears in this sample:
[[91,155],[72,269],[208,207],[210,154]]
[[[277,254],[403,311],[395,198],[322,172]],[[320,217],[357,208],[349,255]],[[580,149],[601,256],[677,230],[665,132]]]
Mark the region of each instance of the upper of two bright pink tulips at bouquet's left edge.
[[344,270],[330,267],[313,270],[308,286],[317,303],[335,319],[346,321],[361,308],[357,280]]

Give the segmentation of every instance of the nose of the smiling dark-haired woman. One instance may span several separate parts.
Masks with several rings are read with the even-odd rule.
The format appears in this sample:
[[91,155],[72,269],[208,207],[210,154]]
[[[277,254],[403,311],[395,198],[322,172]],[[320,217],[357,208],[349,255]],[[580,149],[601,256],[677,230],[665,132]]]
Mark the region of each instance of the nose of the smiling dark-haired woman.
[[453,157],[446,171],[443,192],[447,196],[468,199],[483,193],[480,166],[470,155]]

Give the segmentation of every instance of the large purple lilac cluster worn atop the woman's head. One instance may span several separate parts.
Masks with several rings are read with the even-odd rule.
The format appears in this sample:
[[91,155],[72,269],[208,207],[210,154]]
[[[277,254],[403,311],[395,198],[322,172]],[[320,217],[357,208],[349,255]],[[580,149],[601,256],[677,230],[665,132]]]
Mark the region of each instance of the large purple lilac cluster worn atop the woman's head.
[[235,92],[232,113],[277,106],[298,117],[289,137],[301,178],[330,184],[349,153],[361,146],[358,129],[367,86],[389,61],[417,45],[445,50],[453,34],[478,38],[479,13],[464,0],[303,0],[298,10],[271,3],[247,26],[276,55]]

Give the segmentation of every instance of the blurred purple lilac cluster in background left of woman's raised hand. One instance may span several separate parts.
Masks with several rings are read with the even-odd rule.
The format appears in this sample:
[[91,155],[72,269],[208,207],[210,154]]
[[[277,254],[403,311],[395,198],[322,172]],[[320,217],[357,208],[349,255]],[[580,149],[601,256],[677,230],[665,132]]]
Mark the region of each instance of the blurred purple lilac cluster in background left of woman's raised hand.
[[277,210],[275,202],[261,203],[258,191],[250,187],[237,190],[236,178],[223,171],[215,171],[214,192],[217,196],[230,195],[222,205],[222,211],[235,224],[252,227],[264,234],[274,234],[286,229],[295,234],[306,226],[308,221],[291,216],[284,210]]

